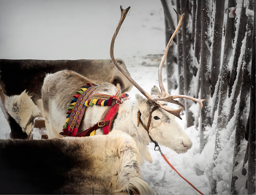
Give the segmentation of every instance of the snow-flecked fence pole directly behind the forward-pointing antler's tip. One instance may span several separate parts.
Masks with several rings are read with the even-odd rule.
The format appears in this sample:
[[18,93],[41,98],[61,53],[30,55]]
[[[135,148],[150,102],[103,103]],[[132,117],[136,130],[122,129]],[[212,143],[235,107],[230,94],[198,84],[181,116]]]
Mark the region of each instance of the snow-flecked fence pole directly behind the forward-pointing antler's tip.
[[203,134],[204,131],[206,131],[207,126],[211,126],[211,118],[210,118],[210,110],[208,106],[208,101],[210,99],[211,90],[210,90],[210,74],[208,70],[208,66],[210,64],[210,37],[209,31],[210,31],[210,21],[211,18],[209,18],[210,12],[209,12],[209,0],[203,0],[202,1],[202,50],[201,50],[201,64],[200,64],[200,72],[201,72],[201,94],[200,99],[206,99],[204,102],[204,107],[201,110],[201,122],[200,122],[200,153],[202,152],[204,146],[206,145],[206,138]]

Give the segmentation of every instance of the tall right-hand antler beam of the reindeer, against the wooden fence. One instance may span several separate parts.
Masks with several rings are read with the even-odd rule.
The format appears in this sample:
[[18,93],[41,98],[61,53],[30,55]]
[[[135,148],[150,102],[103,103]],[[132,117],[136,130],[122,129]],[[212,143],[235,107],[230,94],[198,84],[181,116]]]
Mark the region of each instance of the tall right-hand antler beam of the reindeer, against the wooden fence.
[[[169,96],[169,94],[165,91],[164,85],[162,84],[162,66],[165,63],[165,58],[167,56],[167,52],[169,50],[170,43],[173,42],[173,38],[177,34],[178,29],[181,27],[182,20],[183,20],[183,18],[185,16],[185,13],[183,15],[179,15],[178,12],[176,11],[176,9],[174,9],[174,11],[178,15],[178,26],[177,26],[176,30],[174,31],[172,37],[170,37],[170,41],[168,42],[168,44],[166,46],[165,54],[164,54],[164,56],[162,56],[162,61],[161,61],[160,65],[159,65],[159,69],[158,69],[158,80],[159,80],[159,87],[160,87],[160,90],[162,92],[162,98],[165,98],[165,97]],[[171,102],[171,103],[173,103],[173,102]],[[176,103],[174,103],[174,104],[176,104]]]

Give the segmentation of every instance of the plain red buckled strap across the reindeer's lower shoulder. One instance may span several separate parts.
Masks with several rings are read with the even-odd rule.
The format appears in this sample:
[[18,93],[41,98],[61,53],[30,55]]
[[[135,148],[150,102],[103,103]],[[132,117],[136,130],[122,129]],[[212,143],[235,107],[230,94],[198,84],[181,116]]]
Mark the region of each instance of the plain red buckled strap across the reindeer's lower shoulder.
[[75,137],[89,136],[92,131],[99,129],[100,127],[102,127],[104,134],[108,134],[110,132],[111,125],[113,124],[113,119],[115,118],[118,110],[119,110],[119,104],[113,105],[113,107],[111,107],[110,110],[108,110],[107,114],[103,118],[103,121],[99,121],[97,124],[95,124],[91,128],[86,129],[80,134],[75,135]]

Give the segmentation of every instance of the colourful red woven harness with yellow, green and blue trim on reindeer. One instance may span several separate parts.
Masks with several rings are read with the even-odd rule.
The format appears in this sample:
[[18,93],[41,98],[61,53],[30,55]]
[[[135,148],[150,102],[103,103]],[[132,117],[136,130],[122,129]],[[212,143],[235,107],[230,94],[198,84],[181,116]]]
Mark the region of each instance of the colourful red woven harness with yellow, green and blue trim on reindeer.
[[[92,94],[98,85],[93,85],[87,83],[83,88],[77,92],[77,94],[70,102],[68,111],[67,111],[67,120],[63,126],[63,130],[60,133],[64,137],[86,137],[92,136],[95,134],[95,130],[102,127],[104,134],[108,134],[110,129],[113,127],[113,121],[116,118],[116,115],[119,110],[119,104],[124,102],[127,99],[127,93],[121,93],[117,91],[114,96],[110,96],[107,94]],[[113,104],[113,100],[115,100],[115,104]],[[97,106],[108,106],[110,109],[106,113],[105,117],[102,121],[99,121],[94,126],[91,126],[89,129],[78,133],[78,128],[80,126],[80,122],[82,121],[83,115],[86,112],[86,107],[93,107],[94,105]]]

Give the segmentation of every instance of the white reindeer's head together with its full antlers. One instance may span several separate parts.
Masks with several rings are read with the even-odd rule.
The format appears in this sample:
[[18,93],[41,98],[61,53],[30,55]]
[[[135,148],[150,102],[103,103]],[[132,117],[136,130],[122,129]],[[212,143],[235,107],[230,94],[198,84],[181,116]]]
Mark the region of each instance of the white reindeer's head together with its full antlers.
[[[158,90],[157,87],[154,87],[152,88],[151,96],[150,96],[148,93],[146,93],[146,91],[143,90],[143,88],[140,87],[140,85],[138,85],[138,83],[135,82],[135,80],[132,79],[132,77],[129,76],[129,74],[127,74],[127,72],[124,71],[124,69],[121,68],[121,66],[118,65],[113,55],[116,36],[118,34],[119,29],[121,28],[121,24],[124,22],[124,19],[127,16],[127,12],[129,11],[130,7],[128,7],[127,9],[122,9],[122,7],[120,8],[121,8],[121,18],[119,20],[118,26],[116,28],[115,33],[113,34],[113,38],[111,41],[110,58],[113,61],[113,64],[115,64],[116,68],[122,74],[124,74],[125,77],[127,77],[127,79],[129,80],[129,82],[132,83],[132,85],[138,88],[140,93],[142,93],[147,98],[147,99],[143,99],[143,97],[139,95],[136,96],[136,99],[138,101],[138,107],[140,110],[139,115],[141,115],[141,116],[138,115],[138,118],[140,118],[140,120],[138,121],[138,124],[139,122],[142,123],[144,129],[148,131],[149,138],[151,139],[152,142],[155,142],[154,140],[156,140],[162,145],[166,145],[167,147],[172,148],[177,152],[181,152],[181,153],[186,152],[189,148],[191,148],[192,142],[187,136],[187,134],[184,132],[184,130],[181,129],[178,123],[174,120],[174,115],[181,119],[180,112],[183,107],[183,105],[180,102],[174,99],[176,98],[191,99],[197,102],[198,104],[200,104],[201,108],[203,107],[202,102],[204,100],[195,99],[191,96],[169,95],[165,91],[164,85],[162,84],[162,66],[165,62],[165,58],[167,56],[167,51],[170,47],[170,43],[172,42],[178,29],[180,28],[185,14],[179,15],[178,12],[176,12],[176,14],[178,15],[178,26],[174,31],[172,37],[170,37],[170,41],[167,44],[165,54],[162,57],[162,61],[159,65],[159,70],[158,70],[159,87],[161,92]],[[181,106],[181,108],[179,108],[178,110],[172,110],[170,109],[170,107],[167,107],[167,102],[178,104],[179,106]],[[146,118],[148,118],[148,123],[146,123]],[[174,129],[175,131],[173,131],[172,129]],[[154,139],[152,139],[152,137]],[[172,137],[174,137],[174,139]],[[176,146],[173,147],[173,145],[176,145]]]

